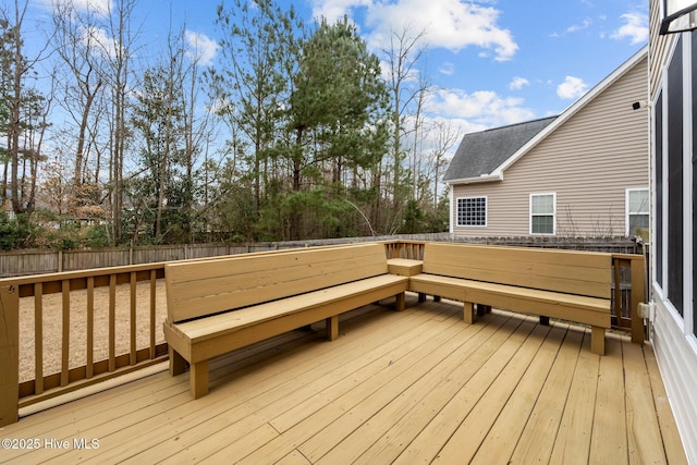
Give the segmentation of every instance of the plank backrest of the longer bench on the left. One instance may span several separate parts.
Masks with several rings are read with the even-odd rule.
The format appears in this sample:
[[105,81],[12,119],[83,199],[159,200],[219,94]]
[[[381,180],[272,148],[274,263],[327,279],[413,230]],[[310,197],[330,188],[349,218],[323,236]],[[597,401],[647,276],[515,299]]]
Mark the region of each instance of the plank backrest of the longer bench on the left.
[[167,311],[179,322],[387,272],[381,244],[172,262],[164,266]]

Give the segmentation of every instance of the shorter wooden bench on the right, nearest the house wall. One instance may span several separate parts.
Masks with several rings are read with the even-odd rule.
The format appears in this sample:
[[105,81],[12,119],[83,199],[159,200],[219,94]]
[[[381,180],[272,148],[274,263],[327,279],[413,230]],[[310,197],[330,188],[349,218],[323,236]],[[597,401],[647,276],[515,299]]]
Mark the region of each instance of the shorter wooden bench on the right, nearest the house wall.
[[604,354],[611,325],[612,255],[428,243],[409,291],[464,302],[464,319],[498,308],[589,325],[591,351]]

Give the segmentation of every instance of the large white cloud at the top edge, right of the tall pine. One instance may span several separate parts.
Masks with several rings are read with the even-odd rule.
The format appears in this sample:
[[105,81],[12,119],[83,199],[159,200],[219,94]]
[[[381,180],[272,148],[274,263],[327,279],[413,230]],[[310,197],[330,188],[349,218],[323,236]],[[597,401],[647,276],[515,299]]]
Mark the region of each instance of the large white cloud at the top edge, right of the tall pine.
[[[486,2],[482,2],[486,3]],[[365,32],[376,47],[393,32],[408,28],[425,32],[425,41],[435,48],[458,51],[479,47],[490,51],[497,61],[511,60],[518,49],[509,29],[498,24],[500,11],[490,5],[461,0],[315,0],[314,14],[334,21],[354,9],[365,8]]]

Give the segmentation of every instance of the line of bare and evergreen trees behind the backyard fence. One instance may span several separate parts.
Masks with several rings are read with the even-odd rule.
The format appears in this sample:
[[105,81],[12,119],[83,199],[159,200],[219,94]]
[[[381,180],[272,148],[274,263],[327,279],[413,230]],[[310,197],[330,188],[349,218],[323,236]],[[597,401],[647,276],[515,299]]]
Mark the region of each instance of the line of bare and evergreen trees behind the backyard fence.
[[371,50],[346,17],[235,0],[207,62],[186,25],[148,53],[136,7],[0,11],[0,248],[447,229],[460,134],[427,118],[424,33]]

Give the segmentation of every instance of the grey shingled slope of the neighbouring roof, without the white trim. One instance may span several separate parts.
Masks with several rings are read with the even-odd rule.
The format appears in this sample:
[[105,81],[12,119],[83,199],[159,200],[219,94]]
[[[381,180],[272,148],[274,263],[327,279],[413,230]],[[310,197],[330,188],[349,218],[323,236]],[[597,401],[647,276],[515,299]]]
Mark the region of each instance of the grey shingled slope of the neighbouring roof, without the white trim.
[[443,175],[443,180],[447,182],[475,181],[491,174],[555,119],[557,117],[542,118],[465,134]]

